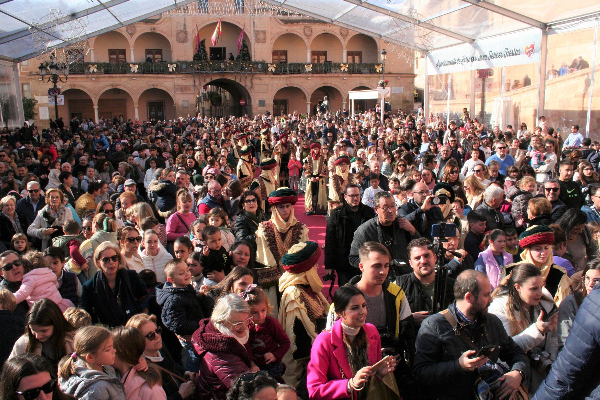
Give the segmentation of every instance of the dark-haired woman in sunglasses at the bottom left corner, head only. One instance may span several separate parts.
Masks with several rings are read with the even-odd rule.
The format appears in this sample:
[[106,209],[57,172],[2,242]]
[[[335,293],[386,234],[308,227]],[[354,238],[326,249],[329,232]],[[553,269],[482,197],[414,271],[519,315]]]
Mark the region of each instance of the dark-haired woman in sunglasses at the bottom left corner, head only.
[[[0,398],[4,400],[71,400],[53,377],[52,366],[37,354],[25,353],[4,364],[0,378]],[[41,395],[41,393],[44,395]],[[41,396],[40,396],[41,395]]]

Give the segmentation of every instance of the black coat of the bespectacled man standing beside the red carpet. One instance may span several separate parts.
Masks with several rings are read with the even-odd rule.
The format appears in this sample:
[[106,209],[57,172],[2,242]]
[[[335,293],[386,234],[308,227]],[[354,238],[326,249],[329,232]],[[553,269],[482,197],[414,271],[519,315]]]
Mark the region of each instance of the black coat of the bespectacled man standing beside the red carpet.
[[373,208],[362,202],[356,211],[350,211],[345,202],[331,211],[325,232],[325,268],[342,270],[352,267],[348,255],[356,229],[374,216]]

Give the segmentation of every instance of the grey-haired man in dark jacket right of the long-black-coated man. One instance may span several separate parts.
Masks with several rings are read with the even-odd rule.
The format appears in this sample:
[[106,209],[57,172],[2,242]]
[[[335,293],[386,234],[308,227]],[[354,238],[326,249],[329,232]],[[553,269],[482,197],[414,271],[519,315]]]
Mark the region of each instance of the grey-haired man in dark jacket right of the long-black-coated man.
[[[392,256],[392,262],[405,262],[408,264],[409,258],[406,247],[409,242],[415,238],[421,237],[415,227],[408,220],[396,216],[396,204],[394,196],[389,192],[377,192],[373,198],[373,204],[377,216],[368,220],[356,229],[350,254],[348,259],[350,264],[358,268],[360,262],[358,249],[367,241],[379,241],[389,251]],[[400,268],[398,275],[409,273],[410,267]],[[392,277],[394,272],[390,271]]]

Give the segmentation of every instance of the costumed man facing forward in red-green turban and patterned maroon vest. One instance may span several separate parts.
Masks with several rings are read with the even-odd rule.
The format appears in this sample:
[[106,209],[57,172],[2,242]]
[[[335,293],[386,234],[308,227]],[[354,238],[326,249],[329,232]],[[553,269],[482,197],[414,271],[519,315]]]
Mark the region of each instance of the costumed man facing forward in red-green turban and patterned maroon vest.
[[269,195],[271,219],[256,229],[256,273],[259,284],[271,302],[272,315],[277,315],[279,296],[277,282],[283,273],[281,257],[294,244],[308,240],[308,228],[294,216],[296,192],[280,187]]

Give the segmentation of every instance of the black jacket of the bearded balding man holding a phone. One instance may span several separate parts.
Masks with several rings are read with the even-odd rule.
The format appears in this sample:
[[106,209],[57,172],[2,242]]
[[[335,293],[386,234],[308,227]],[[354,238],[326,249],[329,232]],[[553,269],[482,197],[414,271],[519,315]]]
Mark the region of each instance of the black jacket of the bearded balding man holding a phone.
[[[449,306],[453,318],[454,305]],[[523,371],[529,377],[529,358],[517,345],[496,315],[486,313],[480,316],[475,332],[463,335],[473,340],[476,347],[496,345],[490,354],[490,362],[502,360],[509,368]],[[487,335],[484,333],[487,332]],[[473,382],[479,372],[465,372],[458,365],[461,354],[467,350],[466,343],[454,333],[452,326],[443,314],[437,313],[426,318],[415,342],[416,354],[413,373],[422,388],[423,399],[475,399]]]

